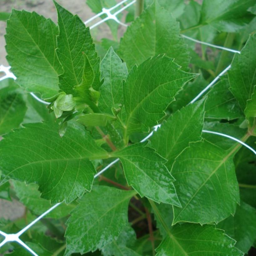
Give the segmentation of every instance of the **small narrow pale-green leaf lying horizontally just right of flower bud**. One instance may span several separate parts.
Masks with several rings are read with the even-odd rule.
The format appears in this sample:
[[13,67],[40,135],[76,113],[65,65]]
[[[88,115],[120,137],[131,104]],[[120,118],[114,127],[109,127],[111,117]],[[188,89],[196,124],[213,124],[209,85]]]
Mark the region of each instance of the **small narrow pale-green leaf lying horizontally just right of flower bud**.
[[103,113],[82,114],[76,119],[84,126],[106,126],[108,121],[114,120],[116,120],[115,116]]

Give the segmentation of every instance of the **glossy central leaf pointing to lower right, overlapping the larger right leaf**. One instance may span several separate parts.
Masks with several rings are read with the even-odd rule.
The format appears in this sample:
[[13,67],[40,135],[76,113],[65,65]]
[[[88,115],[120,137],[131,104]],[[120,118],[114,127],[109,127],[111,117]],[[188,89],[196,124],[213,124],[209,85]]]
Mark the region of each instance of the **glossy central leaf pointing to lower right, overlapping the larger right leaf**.
[[140,196],[145,195],[158,203],[180,206],[174,179],[164,165],[166,160],[154,149],[145,147],[145,143],[136,143],[112,155],[120,158],[128,185]]

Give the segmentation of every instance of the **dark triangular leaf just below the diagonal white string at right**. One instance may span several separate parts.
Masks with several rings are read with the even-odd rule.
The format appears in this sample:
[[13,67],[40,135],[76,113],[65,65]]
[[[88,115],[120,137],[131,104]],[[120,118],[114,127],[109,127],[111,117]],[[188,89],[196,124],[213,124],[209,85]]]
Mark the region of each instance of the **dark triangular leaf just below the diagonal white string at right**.
[[229,91],[227,77],[221,78],[207,93],[205,118],[232,120],[243,116],[236,98]]

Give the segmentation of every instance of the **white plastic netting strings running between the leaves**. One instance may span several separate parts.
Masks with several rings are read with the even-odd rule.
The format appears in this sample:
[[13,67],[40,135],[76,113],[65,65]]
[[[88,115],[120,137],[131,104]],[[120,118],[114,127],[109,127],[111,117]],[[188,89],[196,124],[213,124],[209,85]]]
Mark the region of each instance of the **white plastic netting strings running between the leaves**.
[[[126,4],[124,7],[120,8],[119,10],[117,10],[116,12],[114,12],[113,14],[111,13],[111,11],[115,10],[116,8],[120,7],[122,4],[128,2],[128,4]],[[107,20],[114,20],[116,21],[117,23],[121,24],[122,26],[127,26],[126,24],[122,23],[121,21],[119,21],[117,19],[117,15],[122,12],[123,10],[125,10],[126,8],[128,8],[129,6],[131,6],[132,4],[134,4],[136,2],[136,0],[134,1],[129,1],[129,0],[124,0],[124,1],[121,1],[120,3],[116,4],[115,6],[109,8],[109,9],[106,9],[106,8],[102,8],[102,12],[98,13],[97,15],[93,16],[92,18],[90,18],[89,20],[87,20],[86,22],[84,22],[84,24],[88,24],[89,22],[92,22],[94,19],[96,19],[97,17],[100,17],[101,15],[103,14],[106,14],[107,17],[102,19],[101,21],[97,22],[96,24],[92,25],[90,27],[90,29],[100,25],[101,23],[103,22],[106,22]],[[197,42],[197,43],[200,43],[200,44],[204,44],[204,45],[207,45],[207,46],[210,46],[210,47],[215,47],[215,48],[218,48],[218,49],[222,49],[222,50],[225,50],[225,51],[229,51],[229,52],[235,52],[235,53],[240,53],[239,51],[237,50],[233,50],[233,49],[229,49],[229,48],[226,48],[226,47],[221,47],[221,46],[217,46],[217,45],[213,45],[213,44],[209,44],[209,43],[206,43],[206,42],[201,42],[201,41],[198,41],[198,40],[195,40],[191,37],[187,37],[185,35],[181,35],[182,37],[184,37],[185,39],[188,39],[188,40],[191,40],[191,41],[194,41],[194,42]],[[231,65],[229,65],[228,67],[226,67],[218,76],[216,76],[214,78],[214,80],[209,83],[208,86],[206,86],[204,88],[204,90],[202,90],[190,103],[193,103],[195,102],[197,99],[199,99],[200,96],[202,96],[204,94],[204,92],[206,92],[211,86],[213,86],[216,81],[218,81],[219,77],[224,75],[229,69],[230,69]],[[10,71],[10,66],[8,67],[5,67],[3,65],[0,66],[0,72],[3,72],[5,73],[4,76],[2,76],[0,78],[0,81],[6,79],[6,78],[13,78],[13,79],[16,79],[16,76],[14,76],[14,74]],[[38,101],[44,103],[44,104],[49,104],[48,102],[46,101],[43,101],[42,99],[38,98],[34,93],[31,93],[31,95]],[[155,126],[154,127],[154,130],[149,134],[147,135],[143,140],[141,140],[140,142],[143,142],[147,139],[149,139],[154,131],[157,131],[157,129],[160,128],[160,125],[158,126]],[[251,148],[249,145],[245,144],[243,141],[240,141],[232,136],[229,136],[229,135],[226,135],[226,134],[223,134],[223,133],[219,133],[219,132],[214,132],[214,131],[208,131],[208,130],[203,130],[203,132],[205,133],[212,133],[212,134],[216,134],[216,135],[219,135],[219,136],[224,136],[224,137],[227,137],[229,139],[232,139],[232,140],[235,140],[237,142],[239,142],[240,144],[244,145],[245,147],[247,147],[249,150],[251,150],[252,152],[254,152],[254,154],[256,155],[256,151]],[[116,159],[114,161],[112,161],[109,165],[107,165],[105,168],[103,168],[100,172],[98,172],[96,175],[94,175],[94,178],[98,177],[99,175],[101,175],[104,171],[108,170],[112,165],[114,165],[116,162],[118,162],[119,159]],[[49,212],[51,212],[53,209],[55,209],[57,206],[59,206],[61,204],[60,203],[57,203],[55,204],[54,206],[52,206],[50,209],[48,209],[46,212],[44,212],[43,214],[41,214],[38,218],[36,218],[34,221],[32,221],[30,224],[28,224],[26,227],[24,227],[22,230],[20,230],[19,232],[17,232],[16,234],[6,234],[4,232],[2,232],[0,230],[0,235],[4,236],[4,240],[0,243],[0,247],[2,247],[4,244],[6,244],[7,242],[17,242],[19,243],[21,246],[23,246],[25,249],[27,249],[31,254],[33,255],[37,255],[30,247],[28,247],[24,242],[22,242],[22,240],[19,239],[19,237],[25,232],[27,231],[27,229],[29,229],[33,224],[37,223],[37,221],[39,221],[40,219],[42,219],[45,215],[47,215]]]

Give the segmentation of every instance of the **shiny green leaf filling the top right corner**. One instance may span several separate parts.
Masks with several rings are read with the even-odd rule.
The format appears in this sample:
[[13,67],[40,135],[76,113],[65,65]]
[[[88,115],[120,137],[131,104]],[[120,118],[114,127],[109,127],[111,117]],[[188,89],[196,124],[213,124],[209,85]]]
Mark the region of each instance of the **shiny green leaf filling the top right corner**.
[[255,0],[204,0],[200,23],[220,31],[236,32],[253,18],[247,9]]

